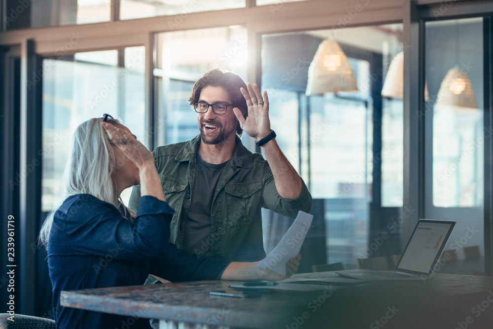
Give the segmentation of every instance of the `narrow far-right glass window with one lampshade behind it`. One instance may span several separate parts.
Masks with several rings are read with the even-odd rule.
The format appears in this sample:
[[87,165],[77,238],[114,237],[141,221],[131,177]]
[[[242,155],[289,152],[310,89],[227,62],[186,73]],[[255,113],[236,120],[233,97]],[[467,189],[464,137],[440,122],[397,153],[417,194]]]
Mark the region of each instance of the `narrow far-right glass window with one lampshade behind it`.
[[[483,19],[426,22],[425,216],[457,220],[447,248],[484,272]],[[446,269],[445,269],[446,270]]]

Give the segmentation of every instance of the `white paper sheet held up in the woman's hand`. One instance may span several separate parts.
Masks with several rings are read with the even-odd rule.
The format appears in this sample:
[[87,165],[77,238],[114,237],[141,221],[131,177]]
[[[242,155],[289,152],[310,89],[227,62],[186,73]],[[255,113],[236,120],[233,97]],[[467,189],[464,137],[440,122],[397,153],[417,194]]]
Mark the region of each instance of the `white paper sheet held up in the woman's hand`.
[[312,219],[313,215],[300,210],[293,224],[289,227],[286,234],[284,234],[276,248],[258,263],[257,266],[269,268],[281,275],[286,275],[286,263],[289,259],[299,254],[301,245],[305,241],[310,225],[312,225]]

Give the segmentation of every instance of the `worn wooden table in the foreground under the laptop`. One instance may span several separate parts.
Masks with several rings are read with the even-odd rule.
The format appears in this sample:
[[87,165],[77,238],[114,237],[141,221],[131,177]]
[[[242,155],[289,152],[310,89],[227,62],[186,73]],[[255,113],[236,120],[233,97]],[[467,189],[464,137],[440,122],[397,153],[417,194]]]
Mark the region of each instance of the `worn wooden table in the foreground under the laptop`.
[[492,277],[437,274],[426,282],[330,286],[317,292],[271,292],[247,298],[209,294],[231,290],[231,284],[238,282],[64,291],[61,305],[161,319],[160,328],[493,328]]

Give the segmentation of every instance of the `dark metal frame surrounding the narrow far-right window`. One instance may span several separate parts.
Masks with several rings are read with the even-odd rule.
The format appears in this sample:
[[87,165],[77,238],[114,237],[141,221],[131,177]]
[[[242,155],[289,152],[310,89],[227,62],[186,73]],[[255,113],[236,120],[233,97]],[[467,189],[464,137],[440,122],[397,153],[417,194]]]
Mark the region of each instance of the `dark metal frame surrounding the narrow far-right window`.
[[[409,45],[408,56],[404,57],[404,205],[417,209],[402,229],[402,241],[406,241],[412,227],[424,216],[425,175],[425,117],[424,108],[424,23],[433,20],[484,17],[484,128],[492,128],[493,70],[491,1],[454,2],[418,5],[415,0],[404,1],[404,45]],[[445,9],[446,8],[446,9]],[[415,68],[418,67],[418,70]],[[419,87],[411,88],[411,86]],[[418,114],[417,116],[415,114]],[[417,141],[417,142],[416,142]],[[492,141],[485,138],[484,144],[484,244],[485,272],[493,273],[493,149]],[[406,188],[407,187],[407,188]]]

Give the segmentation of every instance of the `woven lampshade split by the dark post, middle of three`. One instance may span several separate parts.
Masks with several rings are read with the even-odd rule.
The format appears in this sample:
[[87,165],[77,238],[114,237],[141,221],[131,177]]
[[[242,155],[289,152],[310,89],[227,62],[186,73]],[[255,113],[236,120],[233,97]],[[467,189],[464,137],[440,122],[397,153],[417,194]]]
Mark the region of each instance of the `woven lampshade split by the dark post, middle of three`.
[[[382,96],[389,98],[404,98],[404,52],[401,51],[392,58],[388,66],[387,76],[382,87]],[[429,100],[428,86],[424,82],[424,100]]]

